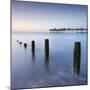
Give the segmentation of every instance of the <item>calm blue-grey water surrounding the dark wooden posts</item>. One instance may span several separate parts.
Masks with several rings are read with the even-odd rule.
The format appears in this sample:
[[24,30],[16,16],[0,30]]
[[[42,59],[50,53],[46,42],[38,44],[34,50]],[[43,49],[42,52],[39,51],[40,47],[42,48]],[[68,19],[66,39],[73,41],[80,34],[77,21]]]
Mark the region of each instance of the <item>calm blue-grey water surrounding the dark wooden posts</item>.
[[[44,51],[44,39],[47,38],[48,60]],[[35,40],[35,55],[32,55],[32,40]],[[79,75],[73,70],[75,41],[81,42]],[[24,48],[25,42],[27,48]],[[12,89],[87,84],[87,33],[13,33],[11,83]]]

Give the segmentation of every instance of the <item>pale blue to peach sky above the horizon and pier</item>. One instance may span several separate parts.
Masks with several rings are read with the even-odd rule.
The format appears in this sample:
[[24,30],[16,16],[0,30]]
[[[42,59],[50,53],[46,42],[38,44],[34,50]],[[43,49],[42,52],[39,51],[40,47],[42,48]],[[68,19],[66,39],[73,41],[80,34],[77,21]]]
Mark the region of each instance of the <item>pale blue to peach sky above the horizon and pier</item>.
[[12,32],[87,28],[87,6],[12,0]]

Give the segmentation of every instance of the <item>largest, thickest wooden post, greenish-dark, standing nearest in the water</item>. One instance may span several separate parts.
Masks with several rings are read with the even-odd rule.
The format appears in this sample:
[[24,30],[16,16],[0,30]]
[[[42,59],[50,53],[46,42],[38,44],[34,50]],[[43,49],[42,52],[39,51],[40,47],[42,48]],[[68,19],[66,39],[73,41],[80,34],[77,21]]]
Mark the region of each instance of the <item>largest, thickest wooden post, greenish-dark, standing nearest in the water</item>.
[[81,59],[81,43],[75,42],[73,69],[74,69],[74,72],[77,74],[79,74],[80,72],[80,59]]

